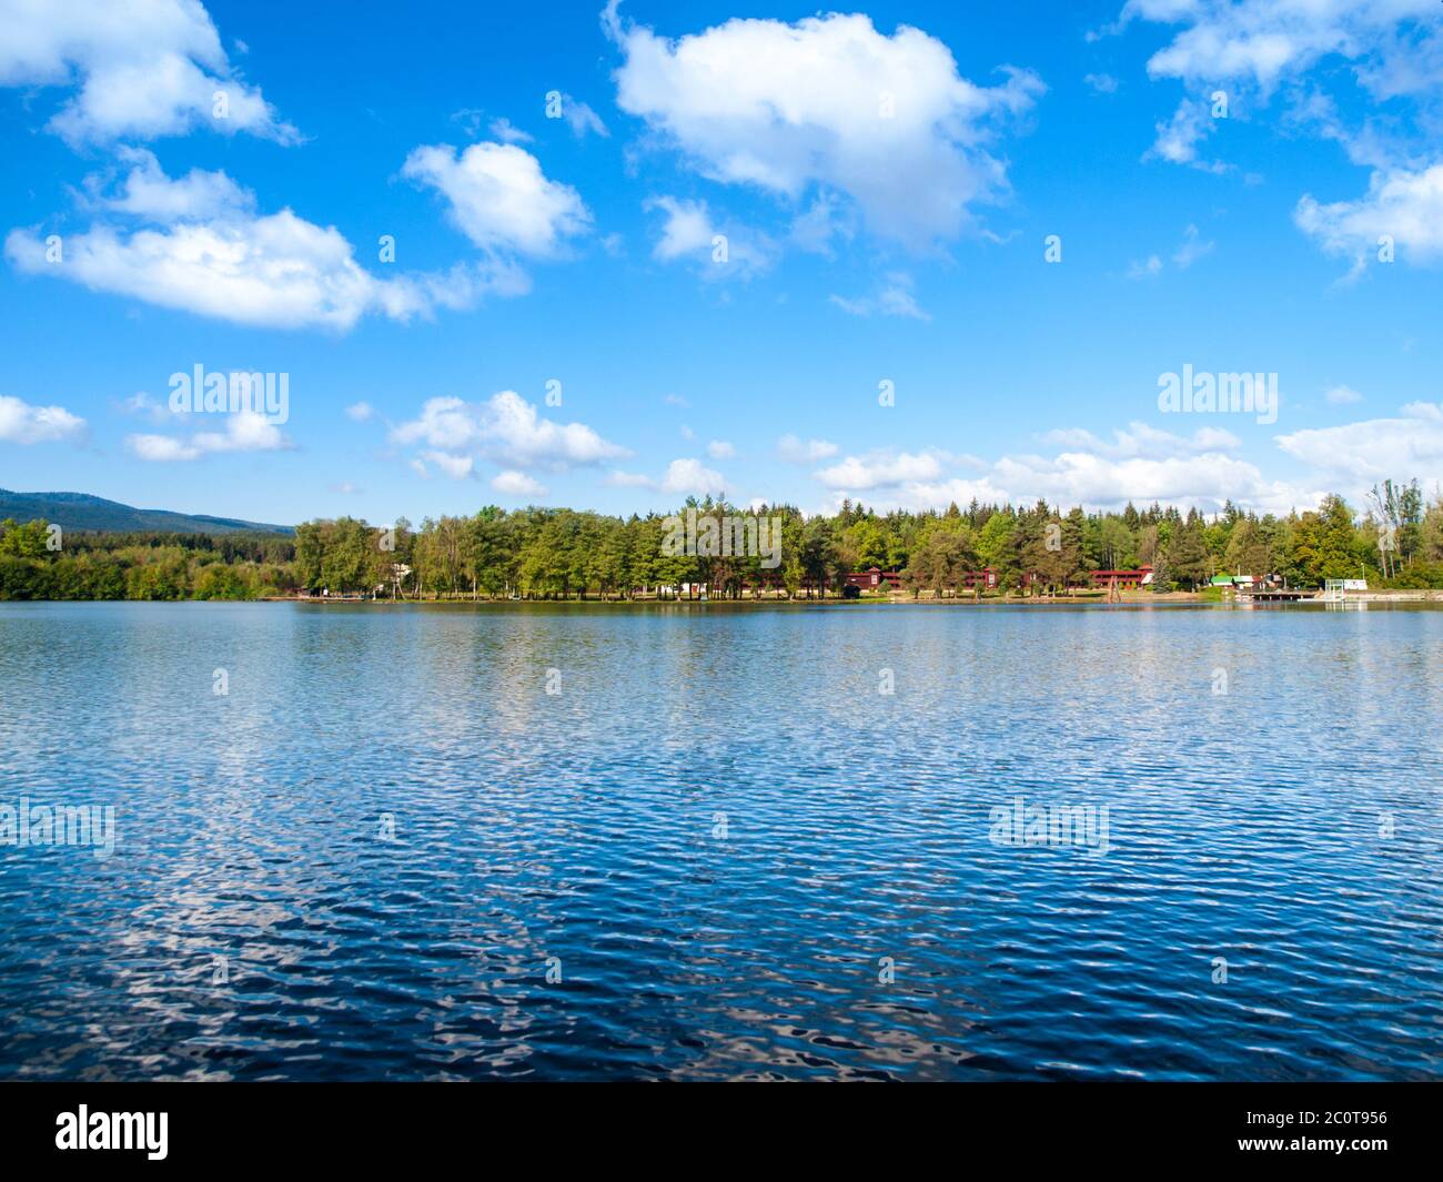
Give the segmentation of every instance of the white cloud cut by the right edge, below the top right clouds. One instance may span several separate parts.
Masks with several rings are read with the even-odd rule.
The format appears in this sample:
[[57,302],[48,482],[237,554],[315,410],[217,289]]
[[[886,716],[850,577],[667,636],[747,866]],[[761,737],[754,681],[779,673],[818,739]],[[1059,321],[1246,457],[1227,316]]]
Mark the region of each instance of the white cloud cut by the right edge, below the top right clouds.
[[1293,221],[1329,254],[1352,258],[1355,268],[1378,257],[1384,237],[1401,260],[1443,263],[1443,163],[1423,172],[1377,170],[1358,201],[1320,205],[1306,195]]

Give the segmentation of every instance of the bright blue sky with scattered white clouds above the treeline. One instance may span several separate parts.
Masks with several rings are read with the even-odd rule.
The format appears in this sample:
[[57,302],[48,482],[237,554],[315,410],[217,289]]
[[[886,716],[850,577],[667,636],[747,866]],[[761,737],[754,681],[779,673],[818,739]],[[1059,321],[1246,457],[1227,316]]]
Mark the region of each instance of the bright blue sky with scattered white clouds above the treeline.
[[[0,488],[293,524],[1443,481],[1436,0],[0,0]],[[284,404],[192,407],[196,367]],[[1276,404],[1163,397],[1228,374]]]

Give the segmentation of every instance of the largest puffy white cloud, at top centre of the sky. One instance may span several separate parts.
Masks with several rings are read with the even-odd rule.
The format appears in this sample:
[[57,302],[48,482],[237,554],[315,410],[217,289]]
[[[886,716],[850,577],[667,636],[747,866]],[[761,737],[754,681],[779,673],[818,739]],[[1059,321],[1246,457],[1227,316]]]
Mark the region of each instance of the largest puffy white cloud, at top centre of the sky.
[[791,201],[846,193],[873,232],[918,250],[957,237],[970,205],[1006,189],[986,146],[1043,91],[1012,68],[978,87],[942,42],[905,25],[885,36],[861,14],[736,19],[668,40],[623,25],[612,3],[603,23],[623,55],[618,105],[704,176]]

